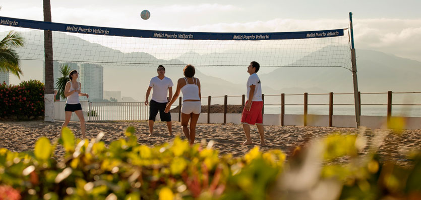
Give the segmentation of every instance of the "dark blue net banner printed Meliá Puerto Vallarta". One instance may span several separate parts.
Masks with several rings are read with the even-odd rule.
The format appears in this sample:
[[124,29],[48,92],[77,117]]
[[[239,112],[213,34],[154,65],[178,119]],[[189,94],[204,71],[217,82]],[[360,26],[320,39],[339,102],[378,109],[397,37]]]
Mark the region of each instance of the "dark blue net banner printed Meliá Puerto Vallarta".
[[0,25],[31,28],[69,33],[123,36],[137,38],[158,38],[178,40],[291,40],[328,38],[343,36],[345,29],[324,31],[300,32],[269,32],[269,33],[212,33],[212,32],[179,32],[179,31],[153,31],[138,29],[120,29],[110,27],[85,26],[75,24],[62,24],[17,18],[0,17]]

